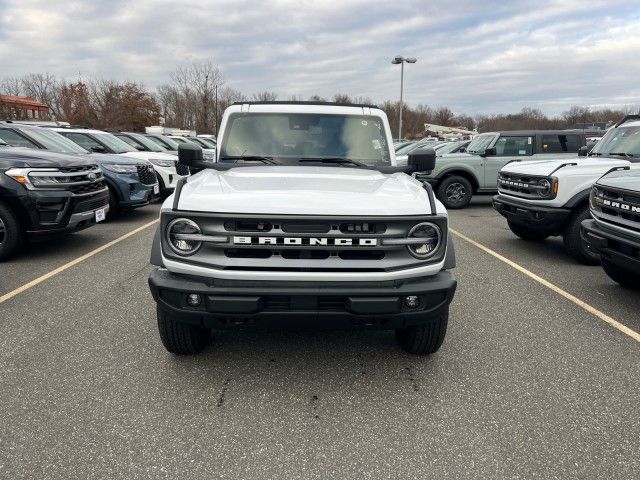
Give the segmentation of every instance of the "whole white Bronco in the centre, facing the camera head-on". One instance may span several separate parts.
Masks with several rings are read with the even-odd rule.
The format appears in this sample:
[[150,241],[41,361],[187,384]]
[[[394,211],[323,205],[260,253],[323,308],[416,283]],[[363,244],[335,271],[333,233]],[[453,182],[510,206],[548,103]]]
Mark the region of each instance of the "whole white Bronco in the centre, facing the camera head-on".
[[[203,349],[210,331],[396,330],[414,354],[438,350],[456,289],[447,212],[428,184],[425,149],[397,167],[385,113],[369,105],[234,104],[217,162],[166,199],[149,285],[161,340]],[[208,168],[207,168],[208,167]]]

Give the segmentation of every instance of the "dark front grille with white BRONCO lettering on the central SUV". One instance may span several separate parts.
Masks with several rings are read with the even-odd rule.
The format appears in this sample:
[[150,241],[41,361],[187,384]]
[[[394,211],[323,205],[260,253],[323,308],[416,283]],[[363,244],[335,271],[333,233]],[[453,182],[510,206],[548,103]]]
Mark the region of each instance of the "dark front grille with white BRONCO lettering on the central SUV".
[[[163,213],[163,231],[180,212]],[[438,262],[447,243],[447,220],[439,216],[407,217],[252,217],[190,214],[211,241],[189,257],[177,256],[163,235],[164,251],[181,262],[235,271],[383,272]],[[427,260],[411,255],[409,231],[433,222],[442,231],[436,253]],[[215,240],[214,240],[215,239]],[[394,242],[395,241],[395,242]]]

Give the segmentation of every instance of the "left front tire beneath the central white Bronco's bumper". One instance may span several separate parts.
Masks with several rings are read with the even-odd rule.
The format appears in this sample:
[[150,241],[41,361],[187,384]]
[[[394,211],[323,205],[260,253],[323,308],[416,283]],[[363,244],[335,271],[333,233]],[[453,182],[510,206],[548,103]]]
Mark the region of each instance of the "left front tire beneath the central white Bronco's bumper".
[[158,330],[164,348],[176,355],[193,355],[209,344],[211,334],[206,328],[180,322],[157,307]]

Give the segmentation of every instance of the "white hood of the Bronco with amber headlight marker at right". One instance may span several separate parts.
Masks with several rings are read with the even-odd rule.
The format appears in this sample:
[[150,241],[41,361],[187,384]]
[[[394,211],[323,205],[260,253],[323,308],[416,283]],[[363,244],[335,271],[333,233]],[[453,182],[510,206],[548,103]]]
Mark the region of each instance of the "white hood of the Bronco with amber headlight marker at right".
[[[501,172],[521,175],[536,175],[548,177],[552,173],[558,175],[598,175],[610,168],[629,165],[629,161],[606,157],[576,157],[562,160],[540,160],[527,162],[511,162],[502,167]],[[563,165],[566,165],[563,167]],[[561,168],[562,167],[562,168]]]

